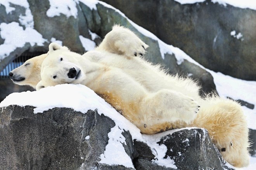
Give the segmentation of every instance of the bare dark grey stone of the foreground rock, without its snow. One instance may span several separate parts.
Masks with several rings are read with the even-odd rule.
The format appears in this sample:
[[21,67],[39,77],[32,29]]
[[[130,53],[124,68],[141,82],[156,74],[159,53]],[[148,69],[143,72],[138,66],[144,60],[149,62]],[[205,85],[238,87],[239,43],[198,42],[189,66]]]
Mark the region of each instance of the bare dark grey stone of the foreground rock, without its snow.
[[[68,108],[34,114],[33,109],[17,105],[1,109],[1,170],[173,170],[152,162],[156,150],[132,140],[129,131],[123,132],[126,142],[123,147],[135,168],[99,163],[109,141],[108,133],[115,123],[104,114],[98,114],[97,109],[88,110],[86,114]],[[174,159],[178,169],[200,166],[230,170],[206,130],[183,129],[163,136],[158,144],[166,145],[166,157]],[[186,162],[185,165],[182,162]]]

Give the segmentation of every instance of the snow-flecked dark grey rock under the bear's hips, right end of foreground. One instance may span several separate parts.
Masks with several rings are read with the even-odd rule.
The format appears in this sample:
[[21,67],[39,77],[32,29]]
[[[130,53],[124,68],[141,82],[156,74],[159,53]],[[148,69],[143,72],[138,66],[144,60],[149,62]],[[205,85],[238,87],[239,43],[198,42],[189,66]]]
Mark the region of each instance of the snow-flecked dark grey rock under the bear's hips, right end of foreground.
[[164,136],[158,144],[167,146],[165,158],[173,159],[178,169],[232,169],[225,165],[205,129],[184,129]]

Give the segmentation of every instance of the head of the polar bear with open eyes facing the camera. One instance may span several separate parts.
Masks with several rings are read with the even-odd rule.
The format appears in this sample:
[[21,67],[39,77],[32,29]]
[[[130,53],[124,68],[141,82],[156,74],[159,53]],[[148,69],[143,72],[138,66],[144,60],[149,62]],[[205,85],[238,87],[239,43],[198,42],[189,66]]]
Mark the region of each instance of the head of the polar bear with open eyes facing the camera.
[[79,83],[80,77],[84,76],[80,62],[80,54],[50,44],[48,56],[42,63],[42,80],[36,85],[36,90],[58,84]]

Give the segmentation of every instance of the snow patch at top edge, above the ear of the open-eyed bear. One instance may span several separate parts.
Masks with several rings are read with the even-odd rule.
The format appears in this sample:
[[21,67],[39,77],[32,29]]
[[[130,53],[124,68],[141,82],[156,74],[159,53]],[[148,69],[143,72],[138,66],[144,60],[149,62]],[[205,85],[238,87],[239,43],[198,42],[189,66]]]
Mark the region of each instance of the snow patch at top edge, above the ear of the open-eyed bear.
[[67,18],[73,16],[77,17],[76,2],[73,0],[49,0],[50,8],[47,10],[48,17],[60,16],[64,14]]

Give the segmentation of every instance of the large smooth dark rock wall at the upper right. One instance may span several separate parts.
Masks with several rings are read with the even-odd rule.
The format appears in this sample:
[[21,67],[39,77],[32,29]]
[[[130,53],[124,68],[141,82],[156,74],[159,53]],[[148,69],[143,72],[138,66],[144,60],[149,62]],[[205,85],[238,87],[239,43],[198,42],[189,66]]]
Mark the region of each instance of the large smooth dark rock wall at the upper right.
[[185,5],[174,0],[103,1],[204,67],[256,80],[256,10],[210,0]]

